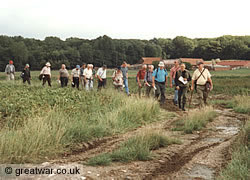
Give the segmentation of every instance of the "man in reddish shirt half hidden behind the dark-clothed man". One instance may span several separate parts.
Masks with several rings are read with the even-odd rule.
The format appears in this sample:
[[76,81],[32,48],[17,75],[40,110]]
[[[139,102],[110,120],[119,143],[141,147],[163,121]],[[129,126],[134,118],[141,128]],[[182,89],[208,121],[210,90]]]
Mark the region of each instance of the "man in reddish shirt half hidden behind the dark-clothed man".
[[169,77],[170,78],[170,88],[175,86],[174,99],[173,99],[174,105],[177,105],[177,102],[178,102],[178,89],[176,88],[176,85],[175,85],[175,75],[176,75],[176,72],[180,70],[179,63],[180,62],[178,60],[174,61],[174,67],[172,67],[170,69],[170,77]]

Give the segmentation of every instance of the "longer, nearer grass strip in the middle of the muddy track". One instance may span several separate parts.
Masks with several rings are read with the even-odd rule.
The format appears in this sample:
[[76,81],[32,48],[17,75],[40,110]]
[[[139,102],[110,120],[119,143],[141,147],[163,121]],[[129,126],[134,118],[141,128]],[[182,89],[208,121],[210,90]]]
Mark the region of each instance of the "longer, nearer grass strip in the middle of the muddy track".
[[91,166],[109,165],[111,162],[146,161],[152,158],[152,150],[166,147],[170,144],[180,144],[177,139],[169,138],[159,132],[147,132],[128,139],[111,152],[100,154],[88,160]]

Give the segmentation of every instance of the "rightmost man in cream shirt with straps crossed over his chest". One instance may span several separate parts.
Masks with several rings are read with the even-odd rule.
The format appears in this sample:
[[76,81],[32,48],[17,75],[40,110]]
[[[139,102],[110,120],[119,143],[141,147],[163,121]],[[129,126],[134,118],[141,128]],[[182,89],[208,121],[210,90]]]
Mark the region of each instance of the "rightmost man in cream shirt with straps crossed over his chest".
[[203,67],[203,62],[197,62],[198,69],[194,71],[192,76],[192,86],[191,91],[195,89],[198,94],[199,107],[204,107],[207,104],[208,92],[213,89],[213,82],[211,79],[211,74],[208,69]]

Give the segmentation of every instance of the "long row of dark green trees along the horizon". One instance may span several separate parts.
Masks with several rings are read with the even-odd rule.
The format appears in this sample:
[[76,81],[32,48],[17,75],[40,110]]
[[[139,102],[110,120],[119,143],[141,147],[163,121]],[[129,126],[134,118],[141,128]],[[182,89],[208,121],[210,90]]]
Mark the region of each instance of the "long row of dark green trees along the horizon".
[[45,40],[21,36],[0,36],[0,71],[12,59],[18,70],[29,63],[32,70],[41,69],[49,61],[53,69],[62,63],[68,68],[76,64],[106,64],[115,67],[126,60],[136,64],[141,57],[250,59],[250,36],[222,36],[219,38],[190,39],[177,36],[174,39],[111,39],[104,35],[87,40],[46,37]]

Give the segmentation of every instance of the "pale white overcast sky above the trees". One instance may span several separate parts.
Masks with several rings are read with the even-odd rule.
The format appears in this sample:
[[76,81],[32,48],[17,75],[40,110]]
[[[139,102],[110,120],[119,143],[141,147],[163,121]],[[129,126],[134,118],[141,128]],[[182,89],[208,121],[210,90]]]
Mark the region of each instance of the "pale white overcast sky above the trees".
[[250,35],[249,0],[0,0],[0,35],[44,39]]

